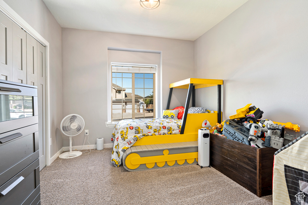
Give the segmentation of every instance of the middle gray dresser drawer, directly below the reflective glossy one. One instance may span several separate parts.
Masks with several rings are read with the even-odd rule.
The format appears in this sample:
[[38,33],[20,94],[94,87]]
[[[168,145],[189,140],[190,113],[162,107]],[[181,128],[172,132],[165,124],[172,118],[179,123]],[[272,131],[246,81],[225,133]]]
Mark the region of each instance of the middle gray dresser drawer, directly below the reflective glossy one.
[[38,124],[3,133],[0,135],[0,141],[2,141],[0,144],[0,186],[2,186],[8,179],[39,158]]

